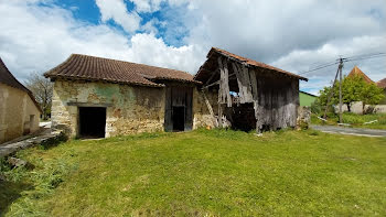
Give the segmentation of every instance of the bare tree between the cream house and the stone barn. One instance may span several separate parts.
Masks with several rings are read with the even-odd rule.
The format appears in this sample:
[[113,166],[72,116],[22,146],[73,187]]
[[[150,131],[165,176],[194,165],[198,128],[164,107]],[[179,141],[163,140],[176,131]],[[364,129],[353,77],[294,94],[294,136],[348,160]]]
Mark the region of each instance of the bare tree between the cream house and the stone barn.
[[51,116],[52,105],[52,83],[43,75],[32,73],[25,82],[26,88],[29,88],[35,97],[37,104],[43,110],[43,120],[47,120]]

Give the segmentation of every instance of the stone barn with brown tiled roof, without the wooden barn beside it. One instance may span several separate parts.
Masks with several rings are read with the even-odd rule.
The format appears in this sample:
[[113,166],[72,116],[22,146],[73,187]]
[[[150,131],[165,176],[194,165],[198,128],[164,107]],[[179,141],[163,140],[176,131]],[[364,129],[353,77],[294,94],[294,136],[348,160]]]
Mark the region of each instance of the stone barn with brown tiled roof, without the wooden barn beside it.
[[72,138],[211,124],[201,82],[185,72],[73,54],[44,75],[54,82],[52,126]]

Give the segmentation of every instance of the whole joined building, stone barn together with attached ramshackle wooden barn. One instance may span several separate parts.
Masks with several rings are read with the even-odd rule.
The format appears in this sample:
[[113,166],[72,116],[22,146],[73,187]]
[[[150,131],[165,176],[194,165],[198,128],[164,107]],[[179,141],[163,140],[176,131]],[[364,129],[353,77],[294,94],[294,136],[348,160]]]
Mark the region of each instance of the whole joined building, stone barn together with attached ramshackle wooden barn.
[[44,74],[54,82],[52,126],[72,137],[104,138],[199,127],[294,127],[298,75],[212,48],[191,74],[73,54]]

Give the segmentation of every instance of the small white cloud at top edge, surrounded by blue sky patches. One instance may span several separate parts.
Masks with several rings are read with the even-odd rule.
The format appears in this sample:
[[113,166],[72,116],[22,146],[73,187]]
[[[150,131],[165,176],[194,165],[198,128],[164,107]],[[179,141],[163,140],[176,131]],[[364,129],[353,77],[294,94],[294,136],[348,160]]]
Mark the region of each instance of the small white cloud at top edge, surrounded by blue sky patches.
[[101,13],[101,21],[114,20],[128,33],[137,31],[140,26],[141,18],[137,12],[128,12],[124,0],[96,0]]

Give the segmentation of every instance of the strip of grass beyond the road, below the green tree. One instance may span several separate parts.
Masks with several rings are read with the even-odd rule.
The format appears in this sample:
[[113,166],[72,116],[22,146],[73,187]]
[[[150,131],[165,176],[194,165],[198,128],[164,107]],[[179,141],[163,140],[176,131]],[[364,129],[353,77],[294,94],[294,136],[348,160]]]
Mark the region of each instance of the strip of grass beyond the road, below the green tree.
[[[386,113],[367,113],[367,115],[357,115],[351,112],[344,112],[342,115],[343,123],[350,123],[353,128],[368,128],[368,129],[379,129],[386,130]],[[377,122],[363,124],[365,122],[369,122],[373,120],[377,120]],[[337,115],[331,115],[328,118],[328,122],[324,122],[317,118],[317,115],[311,115],[311,123],[313,124],[330,124],[336,126],[339,122]]]

